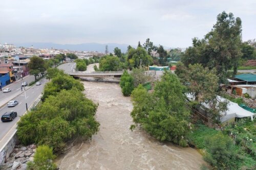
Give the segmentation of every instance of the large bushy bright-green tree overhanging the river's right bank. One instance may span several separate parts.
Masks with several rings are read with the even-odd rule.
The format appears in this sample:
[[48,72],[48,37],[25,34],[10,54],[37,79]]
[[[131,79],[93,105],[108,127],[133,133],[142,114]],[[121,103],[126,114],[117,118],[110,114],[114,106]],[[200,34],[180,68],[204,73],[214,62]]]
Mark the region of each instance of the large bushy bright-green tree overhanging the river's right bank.
[[158,140],[185,146],[189,111],[185,106],[184,86],[176,75],[165,71],[154,90],[153,93],[147,93],[139,85],[132,92],[134,109],[131,115],[134,122],[141,124]]

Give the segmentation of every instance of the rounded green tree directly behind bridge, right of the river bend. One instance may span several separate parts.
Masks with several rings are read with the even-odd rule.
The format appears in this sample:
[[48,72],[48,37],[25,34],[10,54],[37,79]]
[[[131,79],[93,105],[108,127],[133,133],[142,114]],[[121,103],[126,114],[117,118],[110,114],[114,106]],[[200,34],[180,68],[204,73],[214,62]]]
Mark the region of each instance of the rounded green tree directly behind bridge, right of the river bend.
[[99,61],[99,69],[101,71],[117,71],[119,70],[120,59],[114,56],[104,56]]

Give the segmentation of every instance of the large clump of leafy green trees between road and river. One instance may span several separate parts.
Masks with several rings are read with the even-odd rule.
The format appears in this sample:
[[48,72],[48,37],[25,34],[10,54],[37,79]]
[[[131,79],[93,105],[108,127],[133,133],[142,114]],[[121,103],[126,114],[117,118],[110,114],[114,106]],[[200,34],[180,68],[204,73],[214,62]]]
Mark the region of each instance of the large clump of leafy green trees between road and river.
[[[83,85],[57,68],[49,69],[42,103],[17,123],[17,135],[23,144],[48,145],[61,151],[74,138],[91,138],[98,131],[94,115],[97,105],[87,99]],[[61,100],[60,100],[61,99]]]

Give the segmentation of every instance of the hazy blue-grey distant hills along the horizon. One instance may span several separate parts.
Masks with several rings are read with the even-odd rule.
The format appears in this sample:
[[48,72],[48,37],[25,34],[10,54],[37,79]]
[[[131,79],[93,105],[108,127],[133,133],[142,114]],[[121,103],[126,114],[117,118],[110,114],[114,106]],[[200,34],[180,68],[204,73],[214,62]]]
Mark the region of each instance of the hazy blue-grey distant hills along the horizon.
[[[121,49],[123,53],[127,51],[128,44],[118,44],[118,43],[82,43],[82,44],[55,44],[55,43],[43,43],[43,42],[31,42],[31,43],[15,43],[16,47],[24,46],[31,47],[33,45],[34,48],[57,48],[61,50],[71,50],[71,51],[97,51],[97,52],[105,52],[105,46],[108,45],[108,49],[110,53],[113,53],[114,48],[118,47]],[[136,47],[136,46],[134,46]]]

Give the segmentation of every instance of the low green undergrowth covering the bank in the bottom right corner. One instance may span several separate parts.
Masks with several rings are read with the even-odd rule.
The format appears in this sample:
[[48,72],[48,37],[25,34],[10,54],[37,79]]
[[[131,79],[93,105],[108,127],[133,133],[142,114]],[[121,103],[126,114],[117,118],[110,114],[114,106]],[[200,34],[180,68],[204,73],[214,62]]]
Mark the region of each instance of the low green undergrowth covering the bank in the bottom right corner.
[[197,123],[188,141],[213,169],[255,169],[255,132],[249,119],[229,124],[222,131]]

